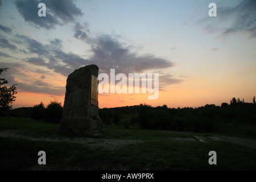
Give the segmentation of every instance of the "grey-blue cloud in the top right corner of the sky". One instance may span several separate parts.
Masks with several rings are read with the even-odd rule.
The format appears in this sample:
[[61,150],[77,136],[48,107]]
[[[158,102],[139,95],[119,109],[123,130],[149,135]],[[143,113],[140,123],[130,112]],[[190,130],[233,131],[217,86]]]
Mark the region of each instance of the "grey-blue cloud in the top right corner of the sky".
[[197,23],[203,23],[205,30],[210,33],[221,31],[221,35],[225,36],[236,32],[247,32],[251,38],[255,38],[256,1],[244,0],[235,7],[218,7],[217,17],[208,17]]

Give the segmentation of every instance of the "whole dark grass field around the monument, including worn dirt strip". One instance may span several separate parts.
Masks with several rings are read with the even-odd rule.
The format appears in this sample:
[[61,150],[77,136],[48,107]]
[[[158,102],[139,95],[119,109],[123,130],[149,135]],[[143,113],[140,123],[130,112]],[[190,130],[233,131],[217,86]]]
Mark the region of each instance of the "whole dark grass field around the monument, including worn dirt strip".
[[[256,170],[255,150],[186,140],[192,137],[115,126],[101,135],[71,135],[55,124],[0,118],[0,170]],[[39,151],[46,165],[38,164]],[[208,163],[209,151],[216,151],[217,165]]]

